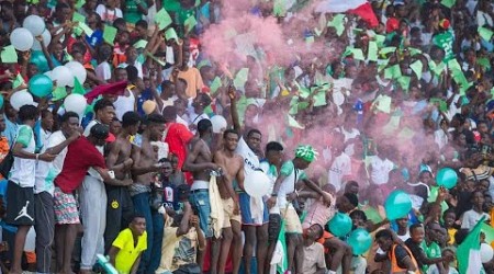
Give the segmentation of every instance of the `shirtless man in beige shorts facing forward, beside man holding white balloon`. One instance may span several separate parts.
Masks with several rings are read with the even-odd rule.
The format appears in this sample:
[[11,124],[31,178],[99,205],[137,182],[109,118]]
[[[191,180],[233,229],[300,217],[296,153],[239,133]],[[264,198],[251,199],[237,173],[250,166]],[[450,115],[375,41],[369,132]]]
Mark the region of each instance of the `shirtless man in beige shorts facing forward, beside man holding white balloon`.
[[[218,178],[217,187],[223,201],[225,221],[222,229],[222,239],[213,244],[221,243],[220,259],[217,261],[217,273],[225,273],[225,264],[229,254],[229,247],[233,240],[233,273],[238,273],[242,260],[242,216],[237,193],[234,190],[234,182],[244,189],[244,158],[235,153],[239,136],[237,132],[227,129],[223,134],[223,148],[214,153],[214,163],[223,170],[223,176]],[[213,255],[215,255],[213,253]],[[212,267],[216,264],[217,258],[212,258]]]

